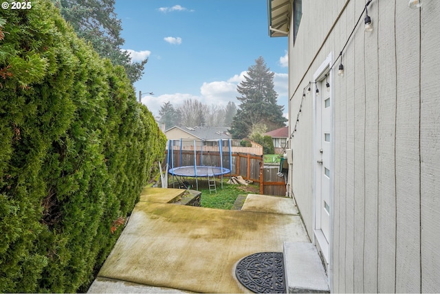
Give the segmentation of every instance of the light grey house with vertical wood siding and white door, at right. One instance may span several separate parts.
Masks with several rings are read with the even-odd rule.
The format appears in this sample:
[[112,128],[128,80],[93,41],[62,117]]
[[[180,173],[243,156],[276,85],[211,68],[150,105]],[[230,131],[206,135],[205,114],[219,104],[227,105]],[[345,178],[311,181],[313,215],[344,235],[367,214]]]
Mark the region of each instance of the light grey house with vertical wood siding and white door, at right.
[[332,292],[440,292],[440,1],[366,3],[267,0],[288,41],[288,193]]

